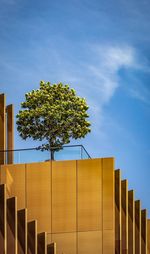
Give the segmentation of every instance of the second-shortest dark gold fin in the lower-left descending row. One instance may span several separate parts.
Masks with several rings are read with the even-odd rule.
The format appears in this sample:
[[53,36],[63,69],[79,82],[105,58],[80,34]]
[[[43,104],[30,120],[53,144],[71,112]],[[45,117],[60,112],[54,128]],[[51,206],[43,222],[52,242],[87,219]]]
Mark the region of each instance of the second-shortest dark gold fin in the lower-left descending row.
[[47,254],[47,234],[45,232],[37,235],[37,247],[38,254]]

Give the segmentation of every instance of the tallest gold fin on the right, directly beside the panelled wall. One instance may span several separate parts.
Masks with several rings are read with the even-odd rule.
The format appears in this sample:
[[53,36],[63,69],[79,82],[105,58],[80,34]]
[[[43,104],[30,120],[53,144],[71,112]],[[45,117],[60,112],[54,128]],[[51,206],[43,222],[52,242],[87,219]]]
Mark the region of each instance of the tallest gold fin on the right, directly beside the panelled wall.
[[121,172],[115,171],[115,253],[121,253]]

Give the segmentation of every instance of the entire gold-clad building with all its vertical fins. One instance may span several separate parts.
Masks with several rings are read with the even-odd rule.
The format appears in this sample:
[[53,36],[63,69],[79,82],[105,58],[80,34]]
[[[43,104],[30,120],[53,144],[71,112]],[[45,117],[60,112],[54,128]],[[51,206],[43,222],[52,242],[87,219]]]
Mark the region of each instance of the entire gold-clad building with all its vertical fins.
[[150,220],[114,158],[13,164],[4,95],[0,133],[0,254],[150,253]]

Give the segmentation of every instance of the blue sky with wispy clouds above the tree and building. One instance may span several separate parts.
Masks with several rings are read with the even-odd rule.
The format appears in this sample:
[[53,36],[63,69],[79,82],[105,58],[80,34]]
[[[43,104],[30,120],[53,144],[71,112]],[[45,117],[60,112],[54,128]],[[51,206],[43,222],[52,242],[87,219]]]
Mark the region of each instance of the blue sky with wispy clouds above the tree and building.
[[[90,106],[92,157],[114,156],[150,211],[150,2],[0,0],[0,92],[18,112],[40,80]],[[75,142],[72,142],[75,144]],[[33,147],[15,133],[15,147]]]

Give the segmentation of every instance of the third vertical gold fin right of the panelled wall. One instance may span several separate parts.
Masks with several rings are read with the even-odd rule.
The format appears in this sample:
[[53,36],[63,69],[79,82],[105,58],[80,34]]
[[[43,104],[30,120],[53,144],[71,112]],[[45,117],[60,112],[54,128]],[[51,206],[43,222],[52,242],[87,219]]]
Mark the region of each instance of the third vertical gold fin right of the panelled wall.
[[128,191],[128,254],[135,254],[134,192]]

